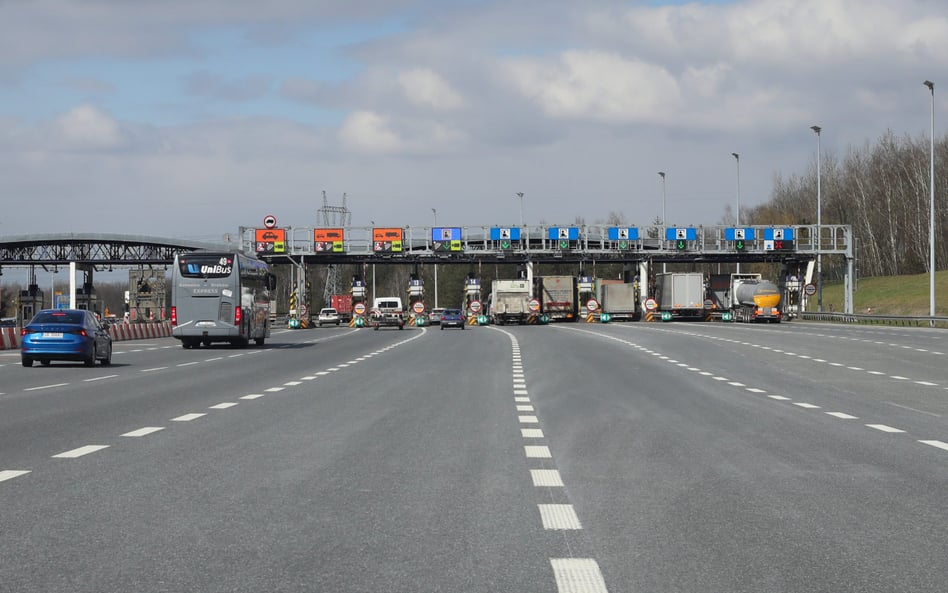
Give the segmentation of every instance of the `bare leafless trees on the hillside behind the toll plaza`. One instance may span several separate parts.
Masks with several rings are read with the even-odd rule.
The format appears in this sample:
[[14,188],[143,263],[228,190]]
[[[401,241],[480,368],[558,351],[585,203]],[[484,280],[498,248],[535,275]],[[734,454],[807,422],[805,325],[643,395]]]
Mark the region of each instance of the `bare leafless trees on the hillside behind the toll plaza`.
[[[935,269],[948,267],[948,137],[935,142]],[[850,147],[840,160],[820,163],[822,223],[851,225],[860,276],[930,271],[931,138],[886,132],[875,143]],[[742,208],[757,225],[816,224],[817,167],[775,175],[768,202]],[[840,262],[840,266],[843,264]],[[832,275],[830,269],[828,275]]]

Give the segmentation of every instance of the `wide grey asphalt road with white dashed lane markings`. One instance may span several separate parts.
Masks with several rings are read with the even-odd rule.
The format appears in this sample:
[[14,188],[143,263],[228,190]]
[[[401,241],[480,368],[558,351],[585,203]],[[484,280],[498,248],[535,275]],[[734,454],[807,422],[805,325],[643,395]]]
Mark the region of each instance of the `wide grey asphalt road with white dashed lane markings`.
[[0,353],[0,591],[948,583],[948,333],[275,333]]

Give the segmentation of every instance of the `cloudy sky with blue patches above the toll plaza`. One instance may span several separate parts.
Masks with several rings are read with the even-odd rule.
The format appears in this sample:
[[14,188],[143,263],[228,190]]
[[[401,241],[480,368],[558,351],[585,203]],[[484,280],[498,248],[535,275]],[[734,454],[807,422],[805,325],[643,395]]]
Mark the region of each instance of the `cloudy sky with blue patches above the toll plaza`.
[[944,0],[0,0],[0,237],[718,224],[925,80]]

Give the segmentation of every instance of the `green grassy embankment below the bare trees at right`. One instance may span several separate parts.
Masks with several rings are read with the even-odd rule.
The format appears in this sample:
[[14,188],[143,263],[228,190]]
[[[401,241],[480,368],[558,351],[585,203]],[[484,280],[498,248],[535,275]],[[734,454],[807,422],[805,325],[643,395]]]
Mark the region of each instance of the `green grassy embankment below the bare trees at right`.
[[[927,317],[931,275],[861,278],[853,292],[853,312]],[[815,311],[816,297],[809,310]],[[842,283],[823,284],[823,310],[843,310]],[[935,316],[948,317],[948,270],[935,272]]]

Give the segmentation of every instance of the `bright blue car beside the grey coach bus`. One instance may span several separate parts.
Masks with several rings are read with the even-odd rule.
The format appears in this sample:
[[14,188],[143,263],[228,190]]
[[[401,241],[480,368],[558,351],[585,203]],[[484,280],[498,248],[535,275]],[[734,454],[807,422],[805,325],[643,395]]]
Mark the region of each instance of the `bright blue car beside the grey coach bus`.
[[54,360],[83,362],[86,366],[112,363],[112,336],[91,311],[44,309],[20,330],[20,359],[48,366]]

